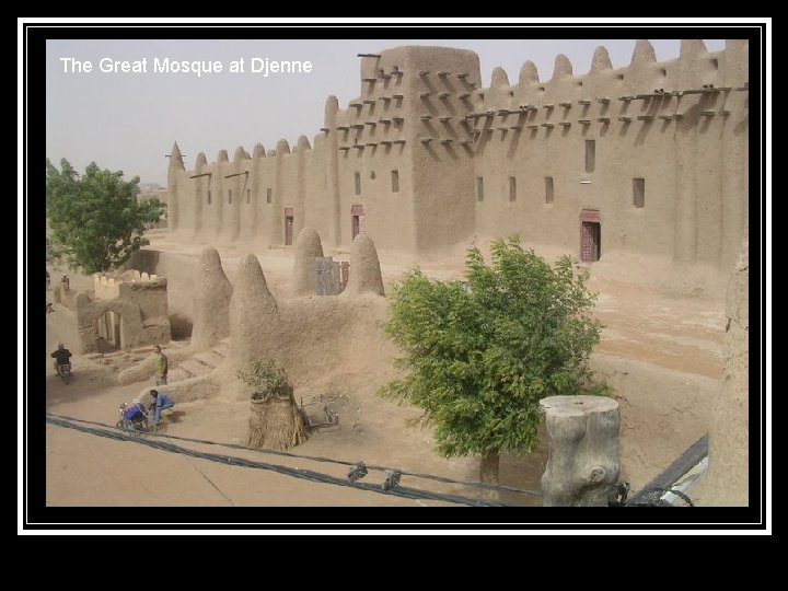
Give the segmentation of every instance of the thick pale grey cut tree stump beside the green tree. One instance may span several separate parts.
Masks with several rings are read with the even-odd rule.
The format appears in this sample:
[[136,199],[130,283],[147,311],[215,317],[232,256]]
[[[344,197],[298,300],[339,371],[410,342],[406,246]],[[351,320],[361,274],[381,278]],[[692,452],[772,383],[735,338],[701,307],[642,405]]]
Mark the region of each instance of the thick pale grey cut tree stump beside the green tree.
[[549,437],[545,507],[607,507],[618,480],[618,403],[605,396],[540,402]]

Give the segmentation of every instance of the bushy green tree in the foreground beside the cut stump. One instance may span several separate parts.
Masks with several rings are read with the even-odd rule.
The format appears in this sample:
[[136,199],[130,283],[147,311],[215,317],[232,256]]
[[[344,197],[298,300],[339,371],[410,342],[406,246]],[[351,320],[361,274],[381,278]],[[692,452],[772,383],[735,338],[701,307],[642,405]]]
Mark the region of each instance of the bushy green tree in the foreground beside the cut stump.
[[502,451],[533,451],[540,399],[607,391],[591,381],[602,326],[588,275],[566,256],[548,265],[518,237],[494,242],[491,255],[487,265],[468,250],[466,282],[416,268],[395,286],[384,329],[407,371],[379,391],[424,410],[442,455],[482,454],[486,483],[498,482]]

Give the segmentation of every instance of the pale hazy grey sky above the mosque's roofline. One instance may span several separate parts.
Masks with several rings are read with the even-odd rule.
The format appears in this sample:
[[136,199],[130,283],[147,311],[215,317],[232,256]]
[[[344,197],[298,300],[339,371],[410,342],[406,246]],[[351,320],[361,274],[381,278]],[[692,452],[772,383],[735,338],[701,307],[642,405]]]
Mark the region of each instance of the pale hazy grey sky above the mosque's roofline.
[[[526,33],[526,32],[525,32]],[[315,31],[318,34],[318,31]],[[660,61],[679,57],[679,40],[651,39]],[[256,142],[267,150],[285,138],[294,146],[300,135],[313,142],[323,125],[325,99],[335,94],[340,107],[359,95],[359,53],[376,53],[398,45],[442,45],[472,49],[479,56],[483,85],[501,66],[509,80],[532,60],[541,80],[549,80],[557,54],[565,54],[576,74],[591,66],[596,46],[604,45],[614,68],[627,66],[634,40],[623,39],[250,39],[250,40],[47,40],[46,154],[54,163],[67,158],[78,171],[95,161],[121,170],[127,178],[166,184],[167,160],[177,140],[187,167],[198,152],[208,161],[225,149],[247,151]],[[709,51],[725,42],[706,39]],[[65,72],[60,58],[90,60],[90,73]],[[311,61],[311,73],[252,73],[252,58]],[[147,73],[102,73],[102,58],[141,60]],[[153,59],[219,60],[224,70],[197,77],[154,73]],[[232,60],[244,58],[244,73],[229,72]]]

